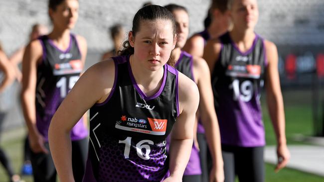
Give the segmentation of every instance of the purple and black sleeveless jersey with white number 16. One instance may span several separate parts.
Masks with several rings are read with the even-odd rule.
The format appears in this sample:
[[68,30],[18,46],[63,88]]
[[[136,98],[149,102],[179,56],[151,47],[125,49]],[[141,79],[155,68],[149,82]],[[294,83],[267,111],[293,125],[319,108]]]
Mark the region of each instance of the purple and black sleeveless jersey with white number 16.
[[138,87],[128,56],[113,57],[108,98],[90,108],[90,144],[84,182],[160,182],[168,171],[166,137],[178,116],[178,72],[164,65],[160,90]]

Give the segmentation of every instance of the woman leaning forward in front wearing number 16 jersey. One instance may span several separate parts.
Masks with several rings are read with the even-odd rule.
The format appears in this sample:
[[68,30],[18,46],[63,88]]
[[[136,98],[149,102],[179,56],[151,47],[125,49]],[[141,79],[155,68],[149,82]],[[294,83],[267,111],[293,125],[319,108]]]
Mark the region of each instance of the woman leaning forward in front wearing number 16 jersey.
[[166,64],[175,29],[166,8],[144,6],[134,16],[121,55],[89,68],[67,95],[49,128],[61,182],[73,181],[69,132],[89,108],[84,182],[181,182],[199,93],[194,82]]

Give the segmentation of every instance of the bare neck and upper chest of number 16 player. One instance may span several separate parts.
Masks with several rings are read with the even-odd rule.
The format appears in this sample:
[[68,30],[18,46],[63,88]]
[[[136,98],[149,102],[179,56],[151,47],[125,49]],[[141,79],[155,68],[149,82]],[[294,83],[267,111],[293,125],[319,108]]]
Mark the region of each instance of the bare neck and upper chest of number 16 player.
[[139,88],[147,95],[151,96],[159,91],[163,81],[163,68],[157,71],[150,71],[138,64],[134,54],[130,56],[130,65],[134,79]]

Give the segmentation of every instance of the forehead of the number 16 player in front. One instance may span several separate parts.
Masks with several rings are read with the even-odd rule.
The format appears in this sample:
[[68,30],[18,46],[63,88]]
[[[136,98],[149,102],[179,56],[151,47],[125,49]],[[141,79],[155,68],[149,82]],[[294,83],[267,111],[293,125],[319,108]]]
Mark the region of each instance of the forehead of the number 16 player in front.
[[139,31],[136,36],[140,37],[157,37],[157,38],[172,38],[173,26],[171,20],[141,20]]

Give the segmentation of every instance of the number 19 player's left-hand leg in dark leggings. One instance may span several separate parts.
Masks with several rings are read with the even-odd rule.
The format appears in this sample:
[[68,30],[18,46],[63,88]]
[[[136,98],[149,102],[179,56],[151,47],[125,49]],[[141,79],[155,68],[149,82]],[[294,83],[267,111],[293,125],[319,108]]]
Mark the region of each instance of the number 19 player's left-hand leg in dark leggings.
[[235,182],[235,156],[232,146],[222,144],[225,182]]

